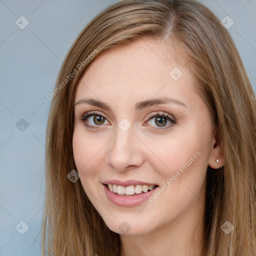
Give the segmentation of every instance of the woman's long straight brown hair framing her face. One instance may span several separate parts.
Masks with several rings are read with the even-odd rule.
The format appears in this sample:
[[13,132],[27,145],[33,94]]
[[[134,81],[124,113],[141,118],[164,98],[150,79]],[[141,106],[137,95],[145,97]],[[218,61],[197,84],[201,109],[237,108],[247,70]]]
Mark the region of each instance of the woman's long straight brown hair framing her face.
[[[42,255],[120,255],[120,239],[88,200],[72,152],[77,81],[101,51],[145,37],[174,41],[219,134],[224,166],[208,167],[203,256],[256,255],[256,100],[228,31],[195,0],[121,0],[81,31],[61,66],[46,133]],[[221,226],[229,221],[229,234]]]

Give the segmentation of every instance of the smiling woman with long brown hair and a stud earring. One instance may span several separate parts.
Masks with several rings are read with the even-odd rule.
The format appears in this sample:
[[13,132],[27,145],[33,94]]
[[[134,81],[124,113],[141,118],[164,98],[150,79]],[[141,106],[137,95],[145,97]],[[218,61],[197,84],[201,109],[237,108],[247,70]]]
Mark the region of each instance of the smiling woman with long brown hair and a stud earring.
[[252,87],[211,11],[114,3],[79,34],[52,93],[45,249],[255,255],[255,127]]

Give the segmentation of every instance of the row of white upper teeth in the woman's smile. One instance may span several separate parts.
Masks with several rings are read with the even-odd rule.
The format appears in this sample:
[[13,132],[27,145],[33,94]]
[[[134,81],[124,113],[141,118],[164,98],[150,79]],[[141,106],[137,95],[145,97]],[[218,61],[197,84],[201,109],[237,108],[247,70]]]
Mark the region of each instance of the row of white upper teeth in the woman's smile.
[[107,184],[107,187],[111,192],[117,193],[117,194],[126,194],[126,195],[133,195],[135,194],[140,194],[142,191],[145,193],[148,190],[152,190],[155,188],[155,185],[133,185],[130,186],[119,186],[115,184]]

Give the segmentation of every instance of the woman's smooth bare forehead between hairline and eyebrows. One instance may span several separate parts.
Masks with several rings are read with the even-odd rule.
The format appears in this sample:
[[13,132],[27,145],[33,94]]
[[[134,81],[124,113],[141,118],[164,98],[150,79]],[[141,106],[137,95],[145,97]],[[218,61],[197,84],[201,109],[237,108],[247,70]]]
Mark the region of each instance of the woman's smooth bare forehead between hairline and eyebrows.
[[166,43],[140,39],[101,52],[80,77],[75,100],[82,96],[109,100],[179,96],[182,90],[191,93],[185,88],[186,83],[192,86],[192,80],[187,68],[171,57]]

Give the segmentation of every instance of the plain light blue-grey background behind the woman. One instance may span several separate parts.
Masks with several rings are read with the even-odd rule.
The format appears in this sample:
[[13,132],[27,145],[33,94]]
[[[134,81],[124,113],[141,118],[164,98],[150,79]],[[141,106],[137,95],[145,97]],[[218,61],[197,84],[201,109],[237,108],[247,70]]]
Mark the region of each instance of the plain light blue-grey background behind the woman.
[[[72,42],[110,0],[0,1],[0,256],[39,255],[50,93]],[[202,1],[234,20],[228,30],[255,91],[256,1]],[[25,16],[20,29],[15,21]],[[16,123],[24,118],[28,127]],[[25,221],[22,235],[15,226]],[[23,225],[24,227],[24,225]]]

